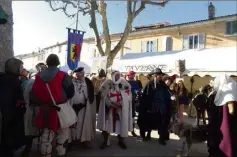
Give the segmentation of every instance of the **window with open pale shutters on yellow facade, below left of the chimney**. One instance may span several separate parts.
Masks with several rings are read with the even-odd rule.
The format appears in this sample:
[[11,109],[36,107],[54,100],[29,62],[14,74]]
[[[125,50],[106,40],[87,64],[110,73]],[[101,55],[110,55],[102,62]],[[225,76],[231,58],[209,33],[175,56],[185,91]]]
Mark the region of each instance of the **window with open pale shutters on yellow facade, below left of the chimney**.
[[184,35],[183,49],[202,49],[205,48],[205,33],[196,35]]

